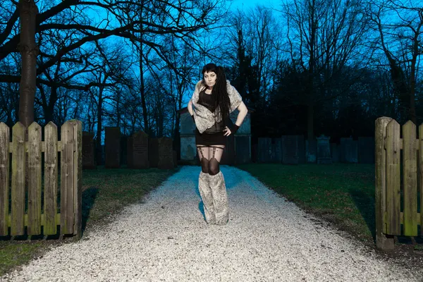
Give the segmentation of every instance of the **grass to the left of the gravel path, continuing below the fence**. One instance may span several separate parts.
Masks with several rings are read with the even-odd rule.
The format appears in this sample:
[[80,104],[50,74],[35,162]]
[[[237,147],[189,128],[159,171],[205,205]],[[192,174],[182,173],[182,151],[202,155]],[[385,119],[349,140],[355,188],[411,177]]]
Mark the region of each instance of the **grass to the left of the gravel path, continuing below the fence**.
[[[105,224],[109,214],[116,214],[128,204],[141,202],[142,198],[157,188],[173,170],[105,169],[82,172],[82,230],[86,226]],[[0,237],[0,276],[16,266],[29,262],[42,254],[57,240],[25,240],[26,238]]]

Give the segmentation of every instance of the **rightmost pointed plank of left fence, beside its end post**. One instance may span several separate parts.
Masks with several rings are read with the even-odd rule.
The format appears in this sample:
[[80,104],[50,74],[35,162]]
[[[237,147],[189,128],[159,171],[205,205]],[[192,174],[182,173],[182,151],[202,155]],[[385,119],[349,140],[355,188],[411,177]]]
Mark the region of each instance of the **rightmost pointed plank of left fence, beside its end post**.
[[61,127],[61,234],[73,233],[73,148],[74,126],[66,121]]

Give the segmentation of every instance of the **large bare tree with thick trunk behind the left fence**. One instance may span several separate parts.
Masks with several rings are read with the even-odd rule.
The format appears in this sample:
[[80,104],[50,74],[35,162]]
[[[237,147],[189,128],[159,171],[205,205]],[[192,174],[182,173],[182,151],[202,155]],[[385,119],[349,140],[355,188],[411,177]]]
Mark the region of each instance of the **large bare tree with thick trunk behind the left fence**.
[[[156,1],[145,0],[142,3],[137,1],[78,1],[78,0],[63,0],[49,2],[48,5],[43,6],[39,14],[37,14],[37,6],[35,1],[20,1],[21,8],[17,6],[16,2],[6,4],[6,11],[9,18],[5,23],[1,23],[0,32],[0,61],[4,61],[18,50],[18,43],[20,36],[25,37],[26,41],[22,42],[20,50],[23,56],[26,56],[24,71],[22,75],[30,75],[23,78],[22,90],[25,94],[20,96],[20,116],[27,116],[25,123],[30,123],[33,120],[32,105],[34,101],[35,87],[30,88],[30,81],[37,78],[40,84],[51,87],[55,85],[55,81],[44,80],[40,74],[45,73],[48,68],[55,66],[59,61],[71,60],[78,61],[75,58],[66,58],[75,49],[83,47],[87,42],[94,42],[96,40],[105,39],[112,35],[123,37],[126,39],[133,39],[134,35],[141,33],[142,37],[137,37],[137,42],[142,42],[146,46],[151,47],[154,51],[166,61],[166,58],[161,55],[162,46],[157,41],[157,36],[174,34],[181,39],[188,41],[193,39],[190,35],[196,30],[208,28],[219,20],[221,13],[219,6],[223,3],[221,0],[214,1]],[[42,2],[44,4],[44,2]],[[3,6],[2,6],[3,8]],[[13,11],[14,8],[14,11]],[[135,8],[138,11],[140,8],[148,11],[148,15],[139,18],[125,18],[128,8]],[[97,9],[100,13],[105,15],[105,18],[96,22],[94,18],[90,18],[88,11]],[[22,34],[16,32],[13,28],[18,22],[19,13],[23,19]],[[35,17],[37,15],[37,17]],[[134,13],[135,15],[135,13]],[[63,20],[66,19],[66,20]],[[26,20],[26,21],[25,21]],[[30,22],[32,20],[32,22]],[[25,22],[25,23],[24,23]],[[27,32],[31,32],[32,34]],[[45,60],[38,61],[37,71],[35,69],[35,54],[37,47],[35,46],[34,35],[42,35],[42,32],[49,30],[57,30],[58,33],[72,30],[72,35],[67,37],[65,44],[57,48],[42,49]],[[27,35],[30,35],[31,39]],[[40,36],[40,40],[45,37]],[[47,38],[48,40],[49,38]],[[29,42],[31,40],[31,42]],[[43,44],[41,44],[43,45]],[[45,45],[45,44],[44,44]],[[31,55],[32,54],[32,55]],[[31,57],[32,56],[32,57]],[[32,58],[32,59],[31,59]],[[81,65],[84,65],[84,60]],[[27,68],[27,69],[26,69]],[[27,71],[32,70],[32,73]],[[51,73],[54,73],[51,72]],[[0,82],[20,82],[20,73],[0,73]],[[32,82],[33,84],[33,82]],[[78,85],[71,85],[66,83],[61,87],[75,89]],[[87,85],[79,87],[80,90],[88,90],[92,85],[88,82]]]

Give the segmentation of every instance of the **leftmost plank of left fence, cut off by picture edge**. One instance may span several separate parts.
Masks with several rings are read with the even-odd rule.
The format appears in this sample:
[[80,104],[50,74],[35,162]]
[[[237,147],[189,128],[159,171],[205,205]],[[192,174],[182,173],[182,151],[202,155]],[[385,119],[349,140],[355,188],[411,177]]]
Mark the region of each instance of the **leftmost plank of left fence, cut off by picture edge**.
[[0,236],[8,234],[8,173],[10,130],[0,123]]

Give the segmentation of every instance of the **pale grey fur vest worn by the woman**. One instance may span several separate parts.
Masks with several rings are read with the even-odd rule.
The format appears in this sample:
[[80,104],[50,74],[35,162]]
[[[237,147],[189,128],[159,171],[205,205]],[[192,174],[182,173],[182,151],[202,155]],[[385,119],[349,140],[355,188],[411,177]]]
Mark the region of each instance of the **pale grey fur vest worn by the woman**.
[[[202,81],[200,80],[195,85],[194,94],[192,94],[191,102],[192,108],[194,109],[194,119],[195,125],[197,125],[198,131],[203,133],[207,128],[211,128],[214,123],[221,121],[221,114],[219,111],[219,106],[216,108],[214,113],[207,109],[207,107],[197,104],[198,98],[200,97],[200,92],[204,88]],[[236,91],[235,87],[231,85],[229,80],[226,80],[226,91],[228,92],[229,100],[231,101],[231,107],[229,108],[229,114],[235,111],[236,108],[243,102],[241,95]],[[216,115],[216,120],[215,120]]]

